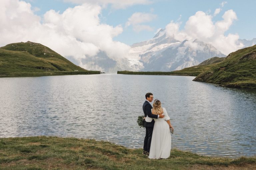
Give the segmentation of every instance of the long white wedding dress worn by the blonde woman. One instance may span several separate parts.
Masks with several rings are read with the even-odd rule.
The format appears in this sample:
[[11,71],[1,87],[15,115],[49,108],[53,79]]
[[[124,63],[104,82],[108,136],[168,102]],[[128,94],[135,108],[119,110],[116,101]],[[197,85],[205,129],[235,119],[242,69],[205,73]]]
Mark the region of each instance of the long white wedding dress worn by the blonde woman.
[[166,159],[171,152],[171,132],[166,121],[170,120],[166,109],[163,108],[164,118],[154,119],[154,129],[152,134],[151,146],[148,158],[150,159]]

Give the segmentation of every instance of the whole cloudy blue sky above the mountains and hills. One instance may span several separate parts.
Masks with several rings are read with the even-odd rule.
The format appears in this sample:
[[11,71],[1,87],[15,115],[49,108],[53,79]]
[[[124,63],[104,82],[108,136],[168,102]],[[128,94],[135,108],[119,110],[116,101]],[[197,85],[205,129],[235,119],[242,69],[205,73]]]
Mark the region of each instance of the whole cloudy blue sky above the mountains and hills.
[[0,46],[38,42],[77,60],[105,51],[129,57],[130,45],[160,29],[228,54],[256,38],[255,0],[1,0]]

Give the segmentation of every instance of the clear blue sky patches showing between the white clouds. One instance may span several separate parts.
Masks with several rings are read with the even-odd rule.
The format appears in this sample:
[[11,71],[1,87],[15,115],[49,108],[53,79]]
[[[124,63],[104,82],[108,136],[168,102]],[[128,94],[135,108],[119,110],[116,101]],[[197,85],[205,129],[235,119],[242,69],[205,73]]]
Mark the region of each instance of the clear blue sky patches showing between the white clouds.
[[[47,11],[53,9],[63,13],[67,8],[73,8],[81,3],[73,3],[71,1],[64,2],[63,0],[26,0],[32,5],[32,9],[37,9],[34,13],[38,16],[43,16]],[[195,15],[197,11],[203,11],[207,14],[213,15],[215,9],[221,8],[221,3],[226,2],[222,7],[220,13],[212,18],[212,21],[222,20],[222,15],[225,11],[232,9],[236,15],[237,20],[232,23],[224,34],[238,34],[240,39],[251,40],[256,38],[256,15],[255,15],[255,0],[232,0],[232,1],[209,1],[209,0],[156,0],[149,4],[134,4],[126,6],[122,9],[114,8],[113,4],[102,5],[101,14],[99,15],[100,22],[110,26],[121,25],[123,32],[116,37],[114,41],[119,41],[131,45],[135,42],[141,42],[154,37],[159,28],[165,28],[171,21],[181,22],[180,29],[184,27],[190,16]],[[101,5],[101,4],[100,4]],[[132,14],[149,13],[156,15],[155,19],[145,22],[150,27],[151,31],[143,30],[136,32],[132,26],[125,27],[126,22]]]

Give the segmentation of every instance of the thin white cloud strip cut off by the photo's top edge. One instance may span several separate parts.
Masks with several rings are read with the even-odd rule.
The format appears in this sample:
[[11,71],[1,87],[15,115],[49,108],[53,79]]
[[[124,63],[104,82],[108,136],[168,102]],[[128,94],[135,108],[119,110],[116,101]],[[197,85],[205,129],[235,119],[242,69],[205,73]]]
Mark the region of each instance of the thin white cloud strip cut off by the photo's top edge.
[[64,2],[72,2],[75,4],[84,4],[84,3],[93,3],[98,5],[107,5],[112,4],[112,7],[115,9],[123,9],[128,6],[137,5],[137,4],[150,4],[152,0],[63,0]]

